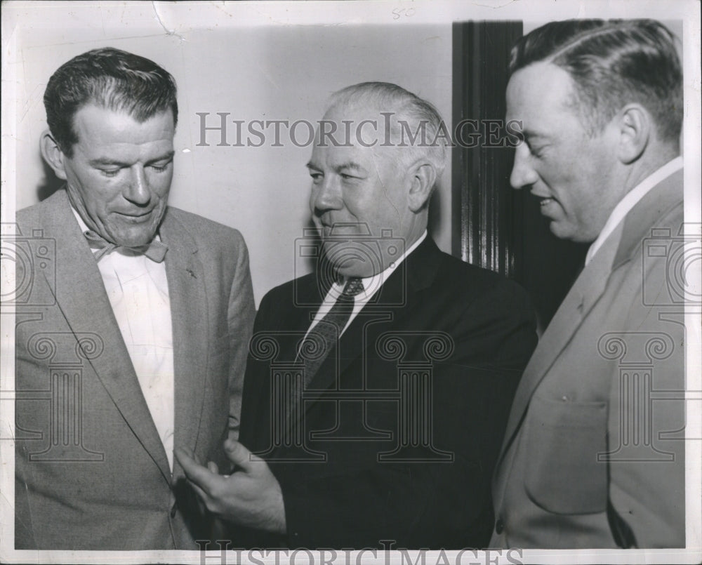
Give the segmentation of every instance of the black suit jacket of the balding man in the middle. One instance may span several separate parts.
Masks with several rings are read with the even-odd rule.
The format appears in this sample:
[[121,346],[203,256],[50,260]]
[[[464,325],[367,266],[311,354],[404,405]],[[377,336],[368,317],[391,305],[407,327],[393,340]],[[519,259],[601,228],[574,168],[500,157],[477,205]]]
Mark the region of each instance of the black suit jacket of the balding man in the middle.
[[[286,363],[295,358],[326,290],[310,274],[274,288],[260,304],[241,442],[263,454],[281,484],[287,536],[239,531],[234,543],[486,544],[489,477],[512,394],[536,345],[526,294],[493,272],[442,253],[427,238],[388,277],[347,328],[338,352],[317,371],[305,392],[304,430],[280,441],[275,430],[282,424],[272,406],[281,397],[271,390],[272,373],[280,378],[290,371]],[[272,348],[267,336],[276,343]],[[422,376],[428,373],[430,391]],[[418,405],[404,407],[416,420],[423,418],[421,430],[401,421],[401,405],[412,396],[398,395],[403,383],[409,385],[405,393],[420,387],[413,396]],[[313,458],[324,454],[322,460],[305,461],[310,453],[300,450],[300,442]],[[301,451],[303,460],[289,460]]]

